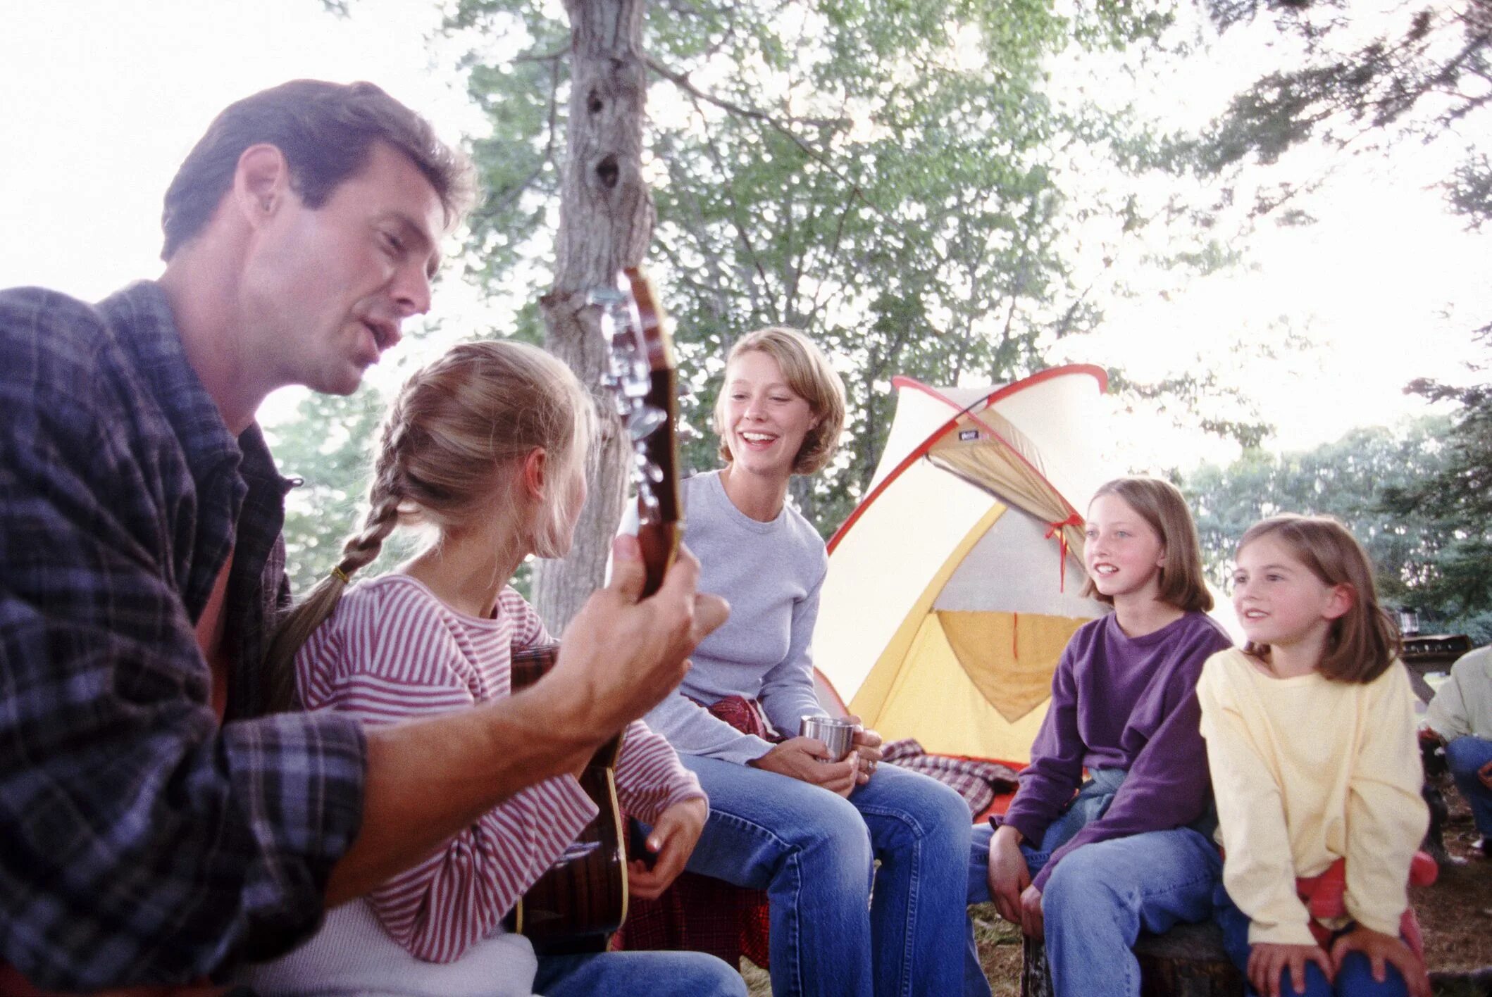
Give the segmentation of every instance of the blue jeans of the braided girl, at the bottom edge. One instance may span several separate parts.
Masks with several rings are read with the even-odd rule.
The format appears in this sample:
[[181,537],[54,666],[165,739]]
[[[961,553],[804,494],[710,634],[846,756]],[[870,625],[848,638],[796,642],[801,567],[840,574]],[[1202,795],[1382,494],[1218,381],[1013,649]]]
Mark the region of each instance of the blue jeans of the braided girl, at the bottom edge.
[[540,955],[534,993],[543,997],[746,997],[734,966],[704,952]]

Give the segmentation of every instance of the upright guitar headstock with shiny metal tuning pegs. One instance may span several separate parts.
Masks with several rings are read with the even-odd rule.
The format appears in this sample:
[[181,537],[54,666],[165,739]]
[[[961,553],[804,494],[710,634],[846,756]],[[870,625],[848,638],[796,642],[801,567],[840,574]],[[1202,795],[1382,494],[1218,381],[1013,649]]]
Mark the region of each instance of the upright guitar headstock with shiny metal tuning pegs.
[[591,291],[588,301],[601,307],[601,332],[609,344],[603,382],[633,443],[637,537],[648,569],[643,595],[652,595],[677,554],[680,532],[673,340],[652,285],[637,268],[618,274],[615,288]]

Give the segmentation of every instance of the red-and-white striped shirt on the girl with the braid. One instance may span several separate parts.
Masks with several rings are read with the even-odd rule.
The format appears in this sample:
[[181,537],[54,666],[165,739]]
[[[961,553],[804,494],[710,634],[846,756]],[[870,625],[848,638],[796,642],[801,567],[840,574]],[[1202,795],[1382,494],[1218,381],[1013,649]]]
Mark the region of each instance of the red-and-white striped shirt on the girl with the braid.
[[[512,589],[503,589],[494,618],[483,620],[455,613],[409,575],[383,575],[342,596],[295,656],[295,680],[306,709],[392,723],[509,696],[513,648],[548,639],[539,614]],[[648,823],[674,803],[704,797],[668,742],[640,720],[622,741],[616,794]],[[501,930],[524,890],[595,814],[573,776],[548,779],[483,814],[369,900],[410,954],[449,963]]]

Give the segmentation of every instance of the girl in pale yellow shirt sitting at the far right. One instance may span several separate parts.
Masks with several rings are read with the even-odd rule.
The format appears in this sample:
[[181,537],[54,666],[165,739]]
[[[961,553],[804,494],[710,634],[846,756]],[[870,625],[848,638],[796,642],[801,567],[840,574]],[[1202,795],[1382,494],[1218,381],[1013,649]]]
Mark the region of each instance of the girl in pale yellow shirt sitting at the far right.
[[[1226,857],[1216,918],[1250,993],[1429,997],[1401,940],[1428,809],[1398,632],[1362,545],[1326,517],[1277,516],[1238,544],[1249,642],[1197,686]],[[1297,878],[1346,860],[1346,917],[1311,931]],[[1288,979],[1288,982],[1286,982]]]

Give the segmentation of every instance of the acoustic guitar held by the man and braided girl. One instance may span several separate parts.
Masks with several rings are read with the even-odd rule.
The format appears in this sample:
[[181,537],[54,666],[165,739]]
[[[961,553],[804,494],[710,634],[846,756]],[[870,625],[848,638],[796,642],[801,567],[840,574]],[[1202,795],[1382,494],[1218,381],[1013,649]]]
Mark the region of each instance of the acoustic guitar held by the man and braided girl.
[[[616,401],[637,462],[637,538],[649,596],[679,553],[682,535],[674,426],[679,392],[673,341],[652,285],[628,268],[616,288],[589,294],[601,307],[610,355],[606,386]],[[513,651],[513,690],[537,683],[558,657],[558,644]],[[542,955],[603,952],[627,920],[627,838],[616,802],[616,756],[622,735],[586,763],[580,787],[600,808],[576,841],[518,902],[509,928],[528,936]]]

